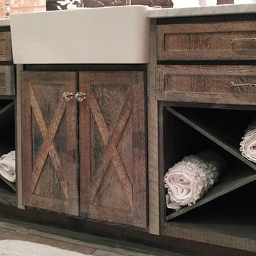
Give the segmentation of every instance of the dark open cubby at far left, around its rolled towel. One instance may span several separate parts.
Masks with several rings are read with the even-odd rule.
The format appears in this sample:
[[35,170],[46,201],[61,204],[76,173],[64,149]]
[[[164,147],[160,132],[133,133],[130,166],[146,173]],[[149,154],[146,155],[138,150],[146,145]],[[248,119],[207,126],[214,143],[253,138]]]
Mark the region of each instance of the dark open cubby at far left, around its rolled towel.
[[[15,101],[0,100],[0,156],[15,150]],[[16,205],[16,184],[0,174],[0,203]]]

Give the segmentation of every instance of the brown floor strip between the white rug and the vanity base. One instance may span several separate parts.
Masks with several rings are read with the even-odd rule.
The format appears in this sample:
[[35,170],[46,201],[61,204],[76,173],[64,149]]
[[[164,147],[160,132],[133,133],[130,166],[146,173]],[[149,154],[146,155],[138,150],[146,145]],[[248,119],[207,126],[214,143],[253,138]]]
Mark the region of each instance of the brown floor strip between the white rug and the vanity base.
[[[60,235],[64,233],[65,236]],[[81,235],[82,239],[73,239],[77,235]],[[38,242],[93,256],[188,256],[154,247],[100,238],[95,235],[0,218],[0,240],[3,239]]]

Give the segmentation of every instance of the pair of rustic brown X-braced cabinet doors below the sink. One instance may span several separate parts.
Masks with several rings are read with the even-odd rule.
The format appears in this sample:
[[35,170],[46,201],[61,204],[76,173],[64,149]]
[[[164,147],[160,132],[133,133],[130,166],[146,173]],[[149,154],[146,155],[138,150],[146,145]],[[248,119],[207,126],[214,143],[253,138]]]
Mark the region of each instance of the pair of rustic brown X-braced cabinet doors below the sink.
[[144,73],[76,74],[23,73],[23,203],[145,228]]

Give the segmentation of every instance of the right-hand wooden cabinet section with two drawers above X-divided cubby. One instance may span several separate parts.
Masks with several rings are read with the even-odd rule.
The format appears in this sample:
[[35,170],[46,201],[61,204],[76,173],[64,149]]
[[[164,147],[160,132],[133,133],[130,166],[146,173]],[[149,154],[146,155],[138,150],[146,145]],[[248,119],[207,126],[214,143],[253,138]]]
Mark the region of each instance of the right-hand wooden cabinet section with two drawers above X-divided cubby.
[[[246,200],[248,207],[238,204],[255,191],[255,163],[239,150],[256,118],[255,28],[255,18],[243,16],[157,21],[160,235],[256,252],[254,232],[244,222],[255,230],[255,208]],[[196,204],[168,209],[166,171],[205,149],[223,156],[228,169]],[[240,231],[248,239],[238,245]]]

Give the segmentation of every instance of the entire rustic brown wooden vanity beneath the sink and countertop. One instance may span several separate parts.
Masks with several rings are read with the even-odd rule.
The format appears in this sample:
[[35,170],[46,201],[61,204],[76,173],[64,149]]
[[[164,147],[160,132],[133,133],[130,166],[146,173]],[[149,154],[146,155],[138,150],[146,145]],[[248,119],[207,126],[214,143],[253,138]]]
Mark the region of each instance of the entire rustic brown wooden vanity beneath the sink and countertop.
[[[255,34],[255,14],[166,16],[151,18],[147,65],[14,66],[0,56],[16,68],[0,124],[16,102],[6,131],[18,170],[0,215],[196,255],[255,255],[256,165],[239,151],[256,117]],[[203,149],[228,170],[191,208],[167,209],[164,174]]]

